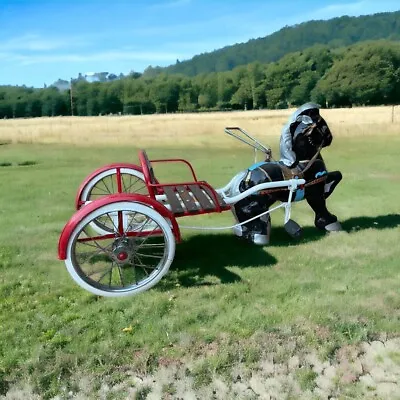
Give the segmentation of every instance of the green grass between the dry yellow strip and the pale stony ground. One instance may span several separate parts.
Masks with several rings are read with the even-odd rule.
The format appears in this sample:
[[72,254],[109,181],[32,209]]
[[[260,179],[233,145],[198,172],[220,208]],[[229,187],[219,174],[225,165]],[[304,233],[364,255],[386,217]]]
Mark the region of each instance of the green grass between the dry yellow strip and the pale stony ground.
[[[223,149],[149,149],[150,158],[189,159],[218,187],[252,162],[252,153]],[[275,152],[275,154],[277,154]],[[7,145],[0,169],[0,394],[27,381],[50,398],[146,375],[162,360],[187,363],[196,385],[224,376],[235,363],[252,368],[268,353],[286,359],[285,341],[334,357],[348,343],[399,323],[400,138],[338,139],[325,150],[344,179],[329,200],[346,232],[320,234],[307,204],[294,207],[304,227],[294,242],[272,215],[269,247],[230,232],[183,231],[169,273],[139,296],[106,299],[80,289],[57,259],[60,232],[74,212],[83,178],[111,162],[136,162],[135,148]],[[17,165],[35,159],[29,167]],[[160,180],[184,179],[170,167]],[[184,225],[227,225],[229,212],[182,219]],[[124,332],[126,327],[132,330]],[[313,386],[310,373],[300,377]],[[174,391],[166,386],[165,391]],[[143,393],[142,393],[143,392]],[[146,390],[141,396],[145,398]]]

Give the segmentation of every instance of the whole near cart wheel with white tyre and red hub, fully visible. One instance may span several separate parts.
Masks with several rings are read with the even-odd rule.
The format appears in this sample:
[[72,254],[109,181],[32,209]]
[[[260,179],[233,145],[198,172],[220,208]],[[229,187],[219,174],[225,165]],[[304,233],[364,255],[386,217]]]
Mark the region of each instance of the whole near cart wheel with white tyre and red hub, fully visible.
[[[112,232],[99,235],[97,223]],[[82,288],[100,296],[128,296],[154,286],[175,254],[171,227],[154,209],[139,203],[106,204],[73,230],[65,260]]]

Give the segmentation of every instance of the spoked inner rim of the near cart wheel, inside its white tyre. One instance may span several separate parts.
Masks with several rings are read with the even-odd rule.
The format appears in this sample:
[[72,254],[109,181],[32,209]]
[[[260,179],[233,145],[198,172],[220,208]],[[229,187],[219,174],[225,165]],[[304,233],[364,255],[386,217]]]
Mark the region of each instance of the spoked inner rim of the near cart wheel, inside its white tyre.
[[[132,292],[151,285],[163,271],[169,246],[165,227],[153,217],[126,207],[89,219],[71,247],[79,277],[102,292]],[[111,233],[99,236],[93,227],[98,224]]]

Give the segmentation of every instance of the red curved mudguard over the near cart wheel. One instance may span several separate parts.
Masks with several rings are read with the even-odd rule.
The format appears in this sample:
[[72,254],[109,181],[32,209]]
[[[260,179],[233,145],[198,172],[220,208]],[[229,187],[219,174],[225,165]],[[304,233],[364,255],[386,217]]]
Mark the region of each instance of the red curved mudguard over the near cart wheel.
[[141,194],[114,194],[110,196],[103,197],[101,199],[97,199],[85,207],[80,208],[67,222],[64,226],[63,231],[61,232],[60,239],[58,241],[58,258],[60,260],[65,260],[67,257],[67,246],[68,241],[72,235],[73,230],[76,226],[85,218],[88,214],[93,212],[99,207],[105,206],[107,204],[118,203],[121,201],[129,201],[133,203],[141,203],[146,206],[150,206],[154,208],[161,216],[164,218],[168,218],[172,224],[172,232],[175,236],[175,240],[177,243],[181,242],[181,233],[179,230],[179,226],[176,222],[174,215],[161,203],[158,201]]

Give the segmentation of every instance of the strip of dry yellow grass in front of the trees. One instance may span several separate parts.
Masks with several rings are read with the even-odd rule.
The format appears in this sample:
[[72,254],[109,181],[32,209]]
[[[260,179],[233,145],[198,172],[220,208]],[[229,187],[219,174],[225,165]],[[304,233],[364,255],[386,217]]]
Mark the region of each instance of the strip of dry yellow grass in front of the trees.
[[[224,127],[240,126],[261,141],[277,137],[294,110],[55,117],[0,120],[0,141],[77,145],[236,146]],[[392,113],[394,112],[394,122]],[[335,136],[400,134],[400,106],[322,110]],[[274,139],[275,142],[275,139]]]

